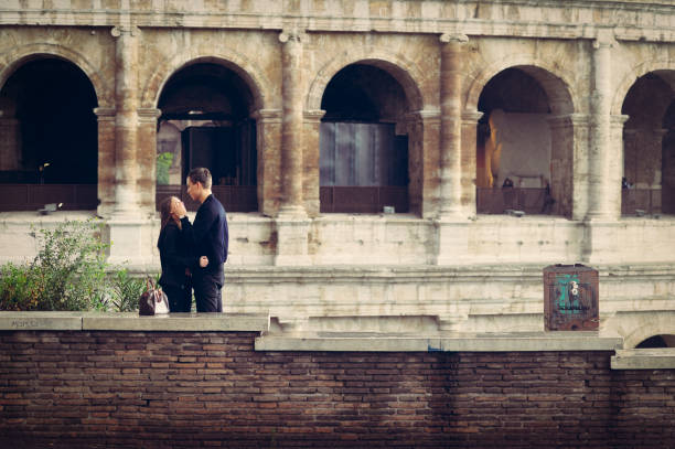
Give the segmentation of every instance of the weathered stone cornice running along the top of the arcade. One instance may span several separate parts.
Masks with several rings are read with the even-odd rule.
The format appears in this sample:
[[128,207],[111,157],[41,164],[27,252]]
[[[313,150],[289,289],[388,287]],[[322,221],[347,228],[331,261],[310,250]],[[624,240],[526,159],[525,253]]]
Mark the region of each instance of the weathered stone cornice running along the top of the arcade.
[[[539,39],[594,39],[598,29],[612,29],[620,41],[675,42],[673,0],[408,0],[416,13],[393,8],[405,0],[384,1],[377,12],[366,0],[356,7],[281,11],[278,7],[254,12],[226,8],[185,7],[182,11],[104,9],[20,9],[0,7],[0,26],[118,26],[128,21],[147,29],[221,29],[283,31],[291,24],[304,32],[382,32],[408,34],[464,34]],[[18,2],[17,2],[18,3]],[[6,3],[7,4],[7,3]],[[158,4],[163,4],[159,2]],[[186,2],[185,4],[191,4]],[[195,3],[199,4],[199,3]],[[226,3],[224,3],[226,4]],[[10,3],[11,6],[11,3]],[[515,12],[507,12],[516,7]],[[519,8],[519,9],[517,9]],[[356,12],[354,12],[356,11]],[[363,11],[363,13],[358,13]],[[377,13],[377,15],[375,15]],[[638,14],[638,15],[636,15]],[[571,19],[570,19],[571,18]]]

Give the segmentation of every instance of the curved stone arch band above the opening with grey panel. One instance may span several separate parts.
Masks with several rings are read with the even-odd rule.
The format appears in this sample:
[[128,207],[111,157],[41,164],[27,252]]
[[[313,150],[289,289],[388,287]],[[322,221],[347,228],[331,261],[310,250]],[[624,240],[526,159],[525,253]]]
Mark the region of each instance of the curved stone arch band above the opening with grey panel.
[[419,88],[421,72],[411,61],[404,56],[382,50],[361,49],[360,51],[345,52],[329,61],[310,83],[306,100],[306,110],[320,110],[321,100],[326,86],[333,77],[352,64],[372,65],[388,73],[400,84],[406,95],[409,113],[424,109],[428,104]]

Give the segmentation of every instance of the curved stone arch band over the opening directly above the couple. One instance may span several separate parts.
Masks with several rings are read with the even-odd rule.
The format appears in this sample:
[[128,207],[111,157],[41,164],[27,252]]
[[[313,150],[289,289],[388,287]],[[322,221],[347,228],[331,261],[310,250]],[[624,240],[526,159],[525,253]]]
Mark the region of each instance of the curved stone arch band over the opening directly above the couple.
[[214,55],[203,55],[196,53],[190,53],[176,55],[173,58],[164,60],[162,64],[154,71],[154,73],[148,79],[142,96],[141,107],[154,108],[159,105],[159,99],[164,86],[171,78],[171,76],[181,70],[190,67],[191,65],[211,63],[226,67],[236,73],[248,86],[253,96],[253,113],[254,110],[261,110],[269,107],[266,101],[269,98],[274,98],[269,81],[262,74],[262,72],[254,65],[246,56],[229,52],[218,53]]

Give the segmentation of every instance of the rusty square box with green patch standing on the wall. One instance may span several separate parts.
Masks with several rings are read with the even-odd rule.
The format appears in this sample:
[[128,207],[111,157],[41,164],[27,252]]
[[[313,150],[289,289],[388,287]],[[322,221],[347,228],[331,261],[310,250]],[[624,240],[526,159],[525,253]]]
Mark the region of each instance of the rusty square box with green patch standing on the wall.
[[544,268],[544,328],[547,331],[597,331],[598,270],[581,264]]

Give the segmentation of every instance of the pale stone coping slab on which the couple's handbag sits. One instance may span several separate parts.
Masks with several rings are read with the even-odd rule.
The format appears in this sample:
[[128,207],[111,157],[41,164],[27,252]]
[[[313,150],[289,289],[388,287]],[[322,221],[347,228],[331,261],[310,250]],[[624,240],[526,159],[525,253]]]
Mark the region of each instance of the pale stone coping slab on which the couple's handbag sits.
[[269,316],[253,313],[0,312],[0,331],[226,331],[264,332]]

